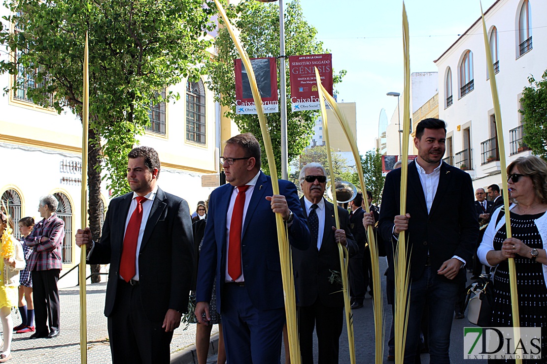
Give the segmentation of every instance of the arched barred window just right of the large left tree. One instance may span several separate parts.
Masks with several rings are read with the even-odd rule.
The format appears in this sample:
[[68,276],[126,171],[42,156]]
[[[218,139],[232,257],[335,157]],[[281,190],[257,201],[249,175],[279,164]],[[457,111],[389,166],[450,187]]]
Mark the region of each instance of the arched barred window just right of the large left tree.
[[186,140],[206,144],[205,87],[201,80],[186,84]]

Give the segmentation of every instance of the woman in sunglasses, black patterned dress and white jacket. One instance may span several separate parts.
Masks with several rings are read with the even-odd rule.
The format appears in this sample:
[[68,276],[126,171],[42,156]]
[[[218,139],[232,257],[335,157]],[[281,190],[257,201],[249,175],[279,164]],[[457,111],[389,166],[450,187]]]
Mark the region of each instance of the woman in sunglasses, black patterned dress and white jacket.
[[505,212],[498,208],[478,251],[482,264],[496,267],[491,326],[513,326],[508,259],[514,258],[520,326],[542,327],[542,352],[547,354],[547,163],[536,156],[520,157],[507,172],[515,202],[509,213],[513,237],[507,238]]

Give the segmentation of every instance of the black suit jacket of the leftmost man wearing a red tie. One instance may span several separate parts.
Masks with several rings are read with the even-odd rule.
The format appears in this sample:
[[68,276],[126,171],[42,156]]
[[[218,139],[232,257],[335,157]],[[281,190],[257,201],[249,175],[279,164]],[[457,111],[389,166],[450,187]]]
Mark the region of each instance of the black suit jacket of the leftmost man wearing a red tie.
[[[110,264],[104,315],[116,305],[125,220],[133,193],[110,201],[101,241],[94,244],[88,264]],[[139,250],[141,301],[147,318],[162,323],[167,309],[186,312],[194,269],[194,242],[188,204],[163,192],[153,201]]]

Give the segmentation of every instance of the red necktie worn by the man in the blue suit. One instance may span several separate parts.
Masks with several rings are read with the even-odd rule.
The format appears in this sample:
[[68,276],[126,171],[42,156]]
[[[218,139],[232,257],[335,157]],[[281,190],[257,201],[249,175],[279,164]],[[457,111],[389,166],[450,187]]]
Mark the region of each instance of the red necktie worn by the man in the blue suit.
[[241,227],[243,225],[243,207],[245,207],[245,191],[247,188],[249,186],[237,187],[237,197],[230,222],[228,275],[234,281],[241,276]]

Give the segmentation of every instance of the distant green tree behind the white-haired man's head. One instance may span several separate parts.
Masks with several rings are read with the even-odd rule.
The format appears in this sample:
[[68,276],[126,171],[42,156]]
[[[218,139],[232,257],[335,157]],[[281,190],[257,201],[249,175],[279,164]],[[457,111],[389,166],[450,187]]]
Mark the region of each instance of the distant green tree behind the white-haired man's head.
[[[330,148],[331,157],[333,159],[333,171],[336,181],[347,181],[345,178],[351,176],[351,172],[347,171],[348,161],[346,158],[336,153],[333,148]],[[320,163],[327,171],[327,178],[330,180],[330,169],[327,158],[327,147],[324,145],[318,145],[311,148],[306,148],[299,158],[296,158],[292,163],[294,173],[289,175],[289,180],[293,181],[296,186],[300,187],[298,176],[300,170],[308,163],[317,162]],[[351,181],[350,181],[351,182]],[[357,186],[357,185],[356,185]]]

